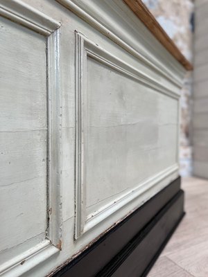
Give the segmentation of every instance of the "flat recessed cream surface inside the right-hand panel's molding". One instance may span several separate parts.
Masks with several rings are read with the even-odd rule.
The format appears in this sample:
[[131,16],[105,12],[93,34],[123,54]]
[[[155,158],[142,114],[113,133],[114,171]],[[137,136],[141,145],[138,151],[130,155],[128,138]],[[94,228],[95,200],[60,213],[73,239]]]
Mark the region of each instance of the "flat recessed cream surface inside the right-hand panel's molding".
[[92,57],[87,57],[86,93],[90,219],[177,163],[177,100]]

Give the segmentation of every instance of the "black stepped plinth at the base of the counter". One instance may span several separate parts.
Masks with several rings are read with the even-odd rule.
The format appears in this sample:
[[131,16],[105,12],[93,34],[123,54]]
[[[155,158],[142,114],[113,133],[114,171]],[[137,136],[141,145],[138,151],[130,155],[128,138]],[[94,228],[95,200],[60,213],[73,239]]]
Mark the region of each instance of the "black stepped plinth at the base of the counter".
[[144,277],[183,215],[179,177],[54,276]]

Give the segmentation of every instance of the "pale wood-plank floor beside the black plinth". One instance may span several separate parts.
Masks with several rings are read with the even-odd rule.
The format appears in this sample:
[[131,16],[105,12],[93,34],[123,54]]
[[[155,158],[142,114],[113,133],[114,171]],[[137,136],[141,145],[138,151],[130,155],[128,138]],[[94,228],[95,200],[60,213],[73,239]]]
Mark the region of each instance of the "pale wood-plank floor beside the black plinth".
[[208,277],[208,181],[186,178],[182,188],[187,215],[148,277]]

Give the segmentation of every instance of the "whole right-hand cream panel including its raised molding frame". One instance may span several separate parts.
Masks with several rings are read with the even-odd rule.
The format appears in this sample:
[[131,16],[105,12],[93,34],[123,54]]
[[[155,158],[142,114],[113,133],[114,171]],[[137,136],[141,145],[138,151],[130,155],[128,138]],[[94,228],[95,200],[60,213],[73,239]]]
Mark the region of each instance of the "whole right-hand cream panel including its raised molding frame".
[[78,238],[177,170],[179,96],[78,33],[76,77]]

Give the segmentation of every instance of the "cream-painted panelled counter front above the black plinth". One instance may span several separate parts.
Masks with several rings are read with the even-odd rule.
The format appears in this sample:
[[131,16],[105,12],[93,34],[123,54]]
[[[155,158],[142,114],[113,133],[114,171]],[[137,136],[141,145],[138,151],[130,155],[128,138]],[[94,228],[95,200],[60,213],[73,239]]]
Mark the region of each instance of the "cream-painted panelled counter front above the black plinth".
[[0,276],[52,275],[178,177],[191,65],[125,2],[0,1]]

